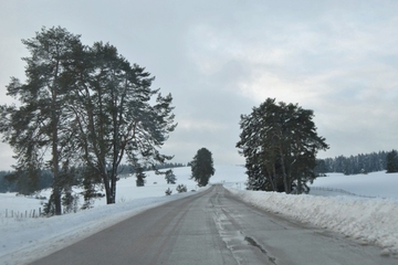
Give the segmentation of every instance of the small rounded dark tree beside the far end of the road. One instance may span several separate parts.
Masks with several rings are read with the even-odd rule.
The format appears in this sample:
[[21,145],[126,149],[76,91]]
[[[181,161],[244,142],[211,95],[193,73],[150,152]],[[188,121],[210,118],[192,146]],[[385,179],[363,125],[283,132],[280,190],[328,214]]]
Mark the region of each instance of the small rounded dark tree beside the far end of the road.
[[201,148],[193,157],[191,165],[191,179],[198,182],[199,187],[206,187],[209,183],[209,179],[214,174],[213,160],[211,152]]

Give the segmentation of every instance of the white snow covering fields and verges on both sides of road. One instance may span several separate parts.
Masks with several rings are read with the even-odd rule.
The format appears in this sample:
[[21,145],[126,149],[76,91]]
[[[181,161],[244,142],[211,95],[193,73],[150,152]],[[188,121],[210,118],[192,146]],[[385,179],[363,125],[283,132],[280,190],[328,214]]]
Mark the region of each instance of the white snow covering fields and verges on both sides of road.
[[[375,243],[381,255],[398,254],[398,173],[343,176],[331,173],[311,186],[308,195],[245,191],[245,169],[238,166],[216,167],[212,183],[223,183],[242,200],[289,219],[336,231],[363,244]],[[29,218],[42,208],[42,201],[0,193],[0,264],[25,264],[133,216],[198,189],[189,179],[190,168],[174,169],[177,184],[186,184],[187,193],[178,194],[177,184],[167,184],[163,176],[148,173],[145,187],[135,187],[135,178],[117,182],[117,203],[105,200],[94,208],[53,218]],[[316,189],[314,188],[316,187]],[[167,188],[172,194],[165,195]],[[42,197],[49,197],[43,191]]]

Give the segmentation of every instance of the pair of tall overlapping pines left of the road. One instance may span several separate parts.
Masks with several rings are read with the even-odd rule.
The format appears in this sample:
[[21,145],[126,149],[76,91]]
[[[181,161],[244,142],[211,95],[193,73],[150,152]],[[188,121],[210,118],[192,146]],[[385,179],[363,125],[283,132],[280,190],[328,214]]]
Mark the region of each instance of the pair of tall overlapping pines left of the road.
[[74,167],[84,168],[86,189],[101,182],[115,203],[124,159],[136,169],[171,159],[159,149],[176,127],[172,97],[151,88],[144,67],[108,43],[83,45],[62,28],[22,42],[30,52],[27,81],[12,77],[7,86],[18,104],[0,106],[0,132],[15,153],[14,179],[36,183],[51,170],[55,214]]

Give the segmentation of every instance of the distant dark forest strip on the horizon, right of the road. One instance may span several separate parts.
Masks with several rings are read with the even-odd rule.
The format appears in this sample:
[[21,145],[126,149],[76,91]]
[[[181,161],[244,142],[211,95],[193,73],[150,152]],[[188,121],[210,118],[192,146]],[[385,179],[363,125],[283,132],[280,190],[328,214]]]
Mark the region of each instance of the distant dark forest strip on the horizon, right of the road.
[[335,157],[317,159],[316,171],[318,173],[336,172],[344,174],[358,174],[376,172],[387,169],[387,156],[389,152],[379,151],[360,153],[350,157]]

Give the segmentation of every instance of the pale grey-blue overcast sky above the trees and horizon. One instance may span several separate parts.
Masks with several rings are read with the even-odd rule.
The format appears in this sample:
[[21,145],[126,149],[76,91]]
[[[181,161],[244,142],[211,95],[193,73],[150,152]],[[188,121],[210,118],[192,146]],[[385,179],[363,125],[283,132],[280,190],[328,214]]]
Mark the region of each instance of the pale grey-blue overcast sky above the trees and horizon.
[[243,163],[240,115],[268,97],[314,110],[331,146],[320,158],[398,148],[395,0],[2,0],[0,21],[0,104],[10,77],[24,80],[21,39],[42,26],[109,42],[172,94],[163,151],[175,162],[206,147],[217,165]]

